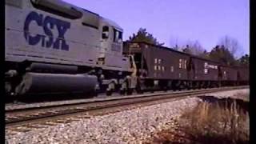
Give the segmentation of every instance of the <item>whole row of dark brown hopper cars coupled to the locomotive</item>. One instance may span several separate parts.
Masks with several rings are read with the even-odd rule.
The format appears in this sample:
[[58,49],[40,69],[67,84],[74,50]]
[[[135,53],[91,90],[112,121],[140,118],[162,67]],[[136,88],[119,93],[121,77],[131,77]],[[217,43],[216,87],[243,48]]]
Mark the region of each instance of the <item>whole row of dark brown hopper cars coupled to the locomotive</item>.
[[125,42],[123,54],[134,55],[138,91],[240,86],[249,81],[248,67],[224,66],[146,42]]

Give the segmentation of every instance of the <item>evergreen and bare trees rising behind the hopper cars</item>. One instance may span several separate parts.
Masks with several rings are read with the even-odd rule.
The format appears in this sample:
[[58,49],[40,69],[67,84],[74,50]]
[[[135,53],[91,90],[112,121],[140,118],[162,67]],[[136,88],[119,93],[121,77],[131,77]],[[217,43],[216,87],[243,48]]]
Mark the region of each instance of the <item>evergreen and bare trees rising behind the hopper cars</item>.
[[[149,42],[154,45],[163,46],[164,43],[158,42],[157,38],[146,31],[146,29],[140,28],[136,34],[130,36],[130,42]],[[200,42],[185,42],[182,46],[175,45],[172,47],[174,50],[179,50],[187,54],[194,54],[201,58],[213,60],[215,62],[221,62],[228,66],[249,66],[250,56],[248,54],[242,55],[240,58],[236,58],[235,54],[238,50],[241,50],[241,46],[238,41],[229,36],[221,38],[216,46],[207,52],[200,44]]]

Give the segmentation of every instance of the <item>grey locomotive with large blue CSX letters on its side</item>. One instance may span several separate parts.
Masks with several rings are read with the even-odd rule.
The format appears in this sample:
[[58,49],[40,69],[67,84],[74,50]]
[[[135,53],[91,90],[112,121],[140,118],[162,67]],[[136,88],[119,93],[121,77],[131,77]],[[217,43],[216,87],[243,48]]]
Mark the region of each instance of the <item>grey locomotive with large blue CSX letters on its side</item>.
[[122,28],[60,0],[6,0],[6,93],[111,94],[133,69]]

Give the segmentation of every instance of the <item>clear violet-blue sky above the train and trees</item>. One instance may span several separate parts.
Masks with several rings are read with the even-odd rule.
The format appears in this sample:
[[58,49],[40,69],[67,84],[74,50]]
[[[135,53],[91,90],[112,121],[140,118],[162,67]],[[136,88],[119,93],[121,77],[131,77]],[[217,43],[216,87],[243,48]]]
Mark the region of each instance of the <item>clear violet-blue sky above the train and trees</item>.
[[238,40],[237,55],[249,54],[249,0],[64,0],[122,26],[124,40],[140,27],[173,47],[198,41],[207,51],[220,38]]

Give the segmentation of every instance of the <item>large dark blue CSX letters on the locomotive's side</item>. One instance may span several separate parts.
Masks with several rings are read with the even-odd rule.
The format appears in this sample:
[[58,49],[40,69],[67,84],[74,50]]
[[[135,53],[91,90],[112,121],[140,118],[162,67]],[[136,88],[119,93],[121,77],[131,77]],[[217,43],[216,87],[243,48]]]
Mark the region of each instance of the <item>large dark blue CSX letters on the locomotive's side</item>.
[[[42,27],[46,35],[36,34],[35,36],[32,36],[30,34],[30,23],[33,21],[36,22],[38,26]],[[52,30],[55,26],[58,30],[58,37],[54,39]],[[32,11],[26,16],[26,21],[24,23],[24,37],[26,38],[26,42],[30,45],[37,45],[41,41],[42,47],[69,50],[69,45],[66,44],[64,38],[66,30],[68,29],[70,29],[70,22],[65,22],[50,16],[44,18],[42,14]]]

